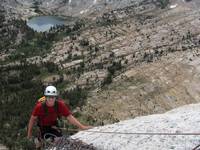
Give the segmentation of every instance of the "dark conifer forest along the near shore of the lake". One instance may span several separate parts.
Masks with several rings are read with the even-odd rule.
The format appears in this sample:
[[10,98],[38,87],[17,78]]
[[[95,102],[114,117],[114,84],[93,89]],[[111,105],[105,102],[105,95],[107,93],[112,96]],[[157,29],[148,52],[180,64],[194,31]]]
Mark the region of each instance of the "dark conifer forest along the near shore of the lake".
[[44,56],[54,42],[67,35],[77,34],[85,26],[83,20],[78,20],[72,26],[57,26],[50,32],[35,32],[26,25],[26,21],[11,20],[5,23],[3,15],[0,15],[0,20],[0,52],[11,52],[7,62]]

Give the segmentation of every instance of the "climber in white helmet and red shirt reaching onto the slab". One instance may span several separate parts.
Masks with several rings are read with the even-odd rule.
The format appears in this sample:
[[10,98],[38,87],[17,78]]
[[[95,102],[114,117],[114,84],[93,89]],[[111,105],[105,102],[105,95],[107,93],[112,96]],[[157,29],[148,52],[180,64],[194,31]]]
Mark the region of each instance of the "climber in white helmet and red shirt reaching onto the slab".
[[44,97],[40,98],[35,105],[28,124],[27,137],[31,139],[33,125],[38,122],[40,137],[44,139],[46,133],[61,137],[61,130],[57,127],[57,119],[66,117],[69,123],[77,126],[81,130],[90,129],[91,126],[86,126],[80,123],[70,112],[67,105],[61,98],[58,98],[58,91],[54,86],[47,86],[44,91]]

